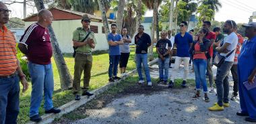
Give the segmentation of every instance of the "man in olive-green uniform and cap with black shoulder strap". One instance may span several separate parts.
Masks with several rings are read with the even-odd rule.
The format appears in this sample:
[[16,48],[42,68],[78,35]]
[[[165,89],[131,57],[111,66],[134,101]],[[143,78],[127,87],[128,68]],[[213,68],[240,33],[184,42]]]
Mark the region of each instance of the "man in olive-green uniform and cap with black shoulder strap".
[[90,17],[87,14],[82,16],[82,27],[78,27],[73,32],[73,46],[75,49],[75,72],[73,79],[73,94],[75,100],[80,100],[79,88],[82,71],[84,70],[84,87],[82,95],[92,96],[88,92],[92,70],[92,48],[95,48],[96,40],[94,32],[90,31]]

